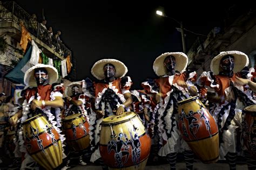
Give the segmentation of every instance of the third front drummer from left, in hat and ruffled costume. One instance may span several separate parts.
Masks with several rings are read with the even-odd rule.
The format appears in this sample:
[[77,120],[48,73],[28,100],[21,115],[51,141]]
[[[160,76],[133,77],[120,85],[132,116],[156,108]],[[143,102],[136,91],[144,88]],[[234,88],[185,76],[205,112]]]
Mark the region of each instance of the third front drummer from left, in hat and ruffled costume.
[[181,52],[164,53],[154,61],[154,72],[159,76],[156,80],[142,83],[147,94],[153,96],[154,105],[159,104],[156,118],[161,146],[158,154],[166,156],[171,169],[176,168],[177,152],[184,152],[187,169],[193,168],[193,152],[181,137],[178,130],[177,102],[190,95],[197,95],[197,88],[192,81],[196,80],[196,72],[187,73],[187,56]]

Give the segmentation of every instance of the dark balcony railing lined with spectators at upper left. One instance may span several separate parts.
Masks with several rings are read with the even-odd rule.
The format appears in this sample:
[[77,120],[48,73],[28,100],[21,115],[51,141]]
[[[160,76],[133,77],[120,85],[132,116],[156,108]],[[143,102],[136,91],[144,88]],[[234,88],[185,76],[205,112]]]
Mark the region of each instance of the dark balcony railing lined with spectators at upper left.
[[60,56],[66,58],[71,55],[70,49],[68,49],[62,41],[56,39],[48,30],[46,30],[41,23],[33,19],[24,9],[21,8],[15,2],[2,2],[0,5],[0,22],[16,22],[19,24],[23,20],[26,29],[29,30],[33,36],[43,41],[53,51],[59,53]]

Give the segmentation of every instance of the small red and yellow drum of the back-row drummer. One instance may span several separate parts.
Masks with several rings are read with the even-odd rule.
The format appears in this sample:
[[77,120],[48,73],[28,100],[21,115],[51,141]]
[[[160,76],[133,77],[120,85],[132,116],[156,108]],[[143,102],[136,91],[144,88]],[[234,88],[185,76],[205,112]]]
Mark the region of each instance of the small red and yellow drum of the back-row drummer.
[[66,143],[74,151],[82,151],[89,146],[89,123],[81,114],[65,117],[63,119],[63,129]]

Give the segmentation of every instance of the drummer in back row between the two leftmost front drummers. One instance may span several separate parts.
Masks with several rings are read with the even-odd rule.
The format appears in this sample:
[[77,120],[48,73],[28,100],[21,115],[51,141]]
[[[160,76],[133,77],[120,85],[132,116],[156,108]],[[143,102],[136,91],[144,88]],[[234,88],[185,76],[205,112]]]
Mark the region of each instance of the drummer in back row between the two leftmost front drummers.
[[[85,95],[82,94],[82,81],[70,83],[65,89],[65,95],[68,97],[65,98],[66,110],[64,112],[64,117],[73,114],[81,114],[89,122],[89,117],[87,115],[87,111],[85,110]],[[66,167],[70,167],[68,164],[69,162],[70,159],[67,161]],[[86,165],[86,163],[83,161],[83,153],[79,153],[78,162],[79,165]]]

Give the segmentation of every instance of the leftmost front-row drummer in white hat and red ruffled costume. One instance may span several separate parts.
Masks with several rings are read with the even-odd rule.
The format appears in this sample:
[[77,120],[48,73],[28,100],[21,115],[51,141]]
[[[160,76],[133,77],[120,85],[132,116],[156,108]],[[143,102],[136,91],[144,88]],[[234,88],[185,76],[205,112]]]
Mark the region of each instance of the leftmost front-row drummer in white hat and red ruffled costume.
[[[38,112],[42,113],[48,117],[49,122],[57,130],[63,144],[65,137],[60,133],[62,131],[60,130],[61,119],[59,108],[63,107],[62,94],[64,92],[64,88],[60,84],[53,85],[57,80],[58,72],[53,66],[37,64],[28,69],[24,75],[24,83],[29,88],[24,90],[25,100],[23,102],[23,111],[17,112],[12,116],[10,118],[10,122],[14,125],[17,124],[18,121],[23,123],[26,119],[37,115]],[[18,134],[19,144],[22,144],[20,151],[25,153],[25,159],[22,162],[21,168],[35,168],[35,160],[28,155],[24,146],[22,129],[19,129]],[[66,156],[63,153],[63,158],[65,157]]]

